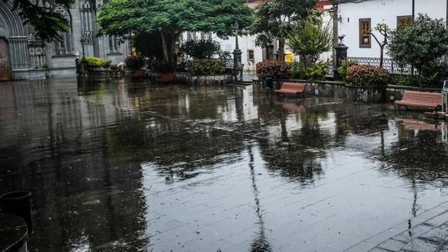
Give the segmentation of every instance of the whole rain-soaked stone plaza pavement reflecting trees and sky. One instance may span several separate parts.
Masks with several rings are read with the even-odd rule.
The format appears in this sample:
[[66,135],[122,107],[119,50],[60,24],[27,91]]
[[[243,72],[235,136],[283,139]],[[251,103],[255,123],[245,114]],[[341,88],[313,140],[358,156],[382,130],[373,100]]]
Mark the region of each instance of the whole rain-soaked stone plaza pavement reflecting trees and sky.
[[444,249],[447,128],[421,113],[124,79],[0,97],[0,193],[32,191],[30,251]]

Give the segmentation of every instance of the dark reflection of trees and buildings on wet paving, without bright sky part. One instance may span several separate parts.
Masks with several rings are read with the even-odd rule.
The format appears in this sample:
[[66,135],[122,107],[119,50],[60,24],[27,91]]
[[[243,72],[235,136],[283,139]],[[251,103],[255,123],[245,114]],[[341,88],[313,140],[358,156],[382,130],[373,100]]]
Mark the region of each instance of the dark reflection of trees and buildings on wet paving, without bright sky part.
[[0,86],[0,96],[0,192],[33,191],[31,245],[43,251],[136,251],[153,242],[145,236],[146,163],[176,187],[247,161],[258,228],[252,251],[272,249],[255,162],[303,185],[324,177],[322,160],[338,150],[383,161],[380,174],[410,182],[413,215],[420,186],[446,186],[446,126],[400,121],[384,104],[123,79],[14,82]]

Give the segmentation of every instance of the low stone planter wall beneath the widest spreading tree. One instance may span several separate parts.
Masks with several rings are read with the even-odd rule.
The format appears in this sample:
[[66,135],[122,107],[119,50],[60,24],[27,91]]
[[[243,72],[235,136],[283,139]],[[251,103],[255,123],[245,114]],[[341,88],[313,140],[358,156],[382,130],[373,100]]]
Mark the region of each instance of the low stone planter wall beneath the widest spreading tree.
[[[152,81],[156,81],[159,73],[148,72],[148,76]],[[188,73],[175,72],[174,83],[185,85],[223,85],[231,83],[233,79],[232,73],[213,74],[213,75],[191,75]]]

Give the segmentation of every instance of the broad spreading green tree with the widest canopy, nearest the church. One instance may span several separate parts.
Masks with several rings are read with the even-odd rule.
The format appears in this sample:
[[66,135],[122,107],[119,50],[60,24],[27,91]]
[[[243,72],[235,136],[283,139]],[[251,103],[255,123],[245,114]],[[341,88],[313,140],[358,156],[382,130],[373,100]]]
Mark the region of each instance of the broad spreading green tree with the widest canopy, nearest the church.
[[100,35],[159,32],[166,61],[175,65],[175,45],[182,32],[235,34],[233,24],[244,28],[251,11],[244,0],[111,0],[98,13]]

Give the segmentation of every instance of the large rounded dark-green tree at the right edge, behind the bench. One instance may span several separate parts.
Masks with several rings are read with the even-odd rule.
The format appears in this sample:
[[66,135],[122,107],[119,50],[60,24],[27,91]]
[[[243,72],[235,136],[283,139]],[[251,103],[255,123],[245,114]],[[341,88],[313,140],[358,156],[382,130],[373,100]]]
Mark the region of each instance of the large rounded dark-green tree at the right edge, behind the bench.
[[448,53],[444,20],[419,14],[415,21],[390,32],[388,52],[400,65],[413,65],[421,77],[439,81],[446,73],[442,59]]

